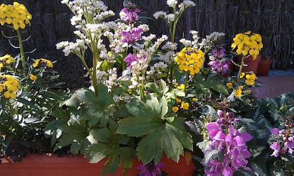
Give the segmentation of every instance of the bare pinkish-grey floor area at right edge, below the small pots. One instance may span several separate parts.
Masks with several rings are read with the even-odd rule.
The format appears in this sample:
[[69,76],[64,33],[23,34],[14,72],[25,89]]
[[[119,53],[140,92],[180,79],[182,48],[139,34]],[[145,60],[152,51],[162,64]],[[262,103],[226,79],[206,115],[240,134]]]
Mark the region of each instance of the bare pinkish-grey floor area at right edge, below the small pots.
[[294,70],[271,70],[267,77],[258,77],[257,80],[256,83],[262,84],[254,89],[258,99],[294,92]]

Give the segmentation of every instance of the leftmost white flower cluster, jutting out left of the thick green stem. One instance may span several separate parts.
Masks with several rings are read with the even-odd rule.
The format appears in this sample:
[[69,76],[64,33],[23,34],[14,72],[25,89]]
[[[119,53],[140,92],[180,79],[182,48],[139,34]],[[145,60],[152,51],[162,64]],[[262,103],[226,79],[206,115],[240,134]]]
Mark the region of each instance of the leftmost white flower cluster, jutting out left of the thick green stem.
[[56,44],[56,49],[63,49],[62,52],[65,53],[65,56],[70,55],[70,53],[75,53],[78,56],[81,56],[82,53],[85,53],[87,50],[87,45],[85,45],[85,41],[81,39],[75,40],[75,43],[62,41]]

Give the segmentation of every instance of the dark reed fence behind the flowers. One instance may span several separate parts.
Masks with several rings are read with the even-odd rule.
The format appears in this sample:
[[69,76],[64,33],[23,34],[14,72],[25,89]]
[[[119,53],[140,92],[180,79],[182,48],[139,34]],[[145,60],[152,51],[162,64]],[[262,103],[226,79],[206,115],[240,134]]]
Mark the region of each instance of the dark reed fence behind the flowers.
[[[106,0],[109,9],[119,16],[123,8],[123,0]],[[190,38],[190,30],[199,31],[205,37],[213,31],[227,34],[228,46],[236,33],[253,31],[263,37],[262,55],[273,57],[273,69],[289,69],[294,67],[294,1],[293,0],[194,0],[196,6],[188,9],[178,23],[176,40]],[[58,60],[57,70],[69,87],[82,85],[82,64],[74,55],[64,57],[55,49],[61,40],[74,40],[73,28],[70,25],[70,13],[67,6],[59,0],[18,0],[25,4],[33,15],[31,28],[26,36],[25,49],[36,51],[30,57],[48,57]],[[169,11],[165,0],[134,0],[141,9],[141,16],[153,18],[156,11]],[[12,0],[0,0],[0,3],[12,4]],[[168,33],[162,20],[148,20],[150,32],[156,35]],[[1,27],[6,35],[13,35],[5,27]],[[7,40],[0,36],[0,53],[15,51],[9,48]]]

